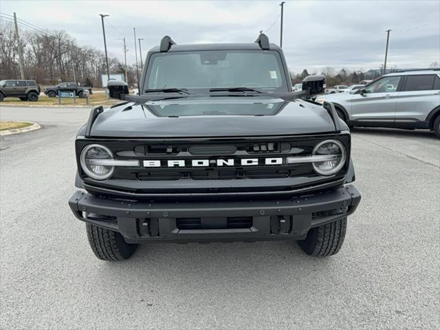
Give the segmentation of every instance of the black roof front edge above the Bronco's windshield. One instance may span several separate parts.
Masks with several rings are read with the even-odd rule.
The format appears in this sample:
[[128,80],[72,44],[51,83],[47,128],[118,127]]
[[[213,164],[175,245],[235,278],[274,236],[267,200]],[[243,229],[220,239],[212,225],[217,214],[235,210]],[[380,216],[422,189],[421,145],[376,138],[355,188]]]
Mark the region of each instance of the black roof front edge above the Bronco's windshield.
[[[261,50],[258,43],[194,43],[192,45],[172,45],[168,52],[200,52],[203,50]],[[278,45],[270,44],[270,50],[281,50]],[[159,46],[150,52],[159,52]]]

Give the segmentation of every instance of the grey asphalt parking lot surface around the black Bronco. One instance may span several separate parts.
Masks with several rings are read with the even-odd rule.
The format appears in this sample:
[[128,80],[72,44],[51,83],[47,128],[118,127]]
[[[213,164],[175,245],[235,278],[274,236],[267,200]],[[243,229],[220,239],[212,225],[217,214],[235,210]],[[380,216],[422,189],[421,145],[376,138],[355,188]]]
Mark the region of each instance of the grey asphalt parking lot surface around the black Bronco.
[[0,140],[1,329],[439,329],[440,140],[354,129],[358,211],[341,251],[142,245],[96,259],[69,211],[89,109],[1,107],[43,129]]

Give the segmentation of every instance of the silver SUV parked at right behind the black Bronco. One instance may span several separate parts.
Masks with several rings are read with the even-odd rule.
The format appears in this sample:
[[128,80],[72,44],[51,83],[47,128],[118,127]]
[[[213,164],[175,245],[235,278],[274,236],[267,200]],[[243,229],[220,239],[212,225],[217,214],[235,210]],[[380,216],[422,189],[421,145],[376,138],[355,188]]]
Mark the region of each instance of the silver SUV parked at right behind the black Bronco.
[[440,137],[440,69],[386,74],[356,91],[316,100],[333,102],[349,126],[431,129]]

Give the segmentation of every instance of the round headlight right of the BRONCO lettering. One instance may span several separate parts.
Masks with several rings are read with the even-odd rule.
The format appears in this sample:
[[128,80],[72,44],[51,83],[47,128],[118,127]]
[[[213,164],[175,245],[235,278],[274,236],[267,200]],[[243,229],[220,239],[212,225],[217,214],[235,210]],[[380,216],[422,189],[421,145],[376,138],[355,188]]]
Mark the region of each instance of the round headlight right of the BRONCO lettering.
[[[314,156],[328,156],[327,160],[314,162],[314,170],[320,175],[333,175],[344,167],[347,159],[347,152],[341,142],[336,140],[325,140],[317,144],[312,151]],[[326,157],[323,157],[326,158]]]

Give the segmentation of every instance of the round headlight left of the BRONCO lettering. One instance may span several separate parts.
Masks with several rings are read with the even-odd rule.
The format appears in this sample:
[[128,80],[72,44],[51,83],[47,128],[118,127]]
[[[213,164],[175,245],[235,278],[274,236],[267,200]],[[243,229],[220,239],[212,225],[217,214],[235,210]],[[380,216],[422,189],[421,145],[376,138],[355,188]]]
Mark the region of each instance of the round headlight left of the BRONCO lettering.
[[111,177],[114,167],[103,165],[106,159],[113,159],[113,153],[106,146],[100,144],[89,144],[81,151],[80,163],[85,174],[97,180],[104,180]]

